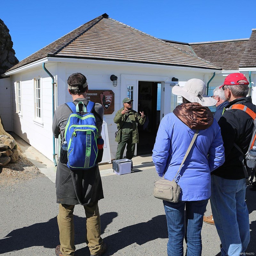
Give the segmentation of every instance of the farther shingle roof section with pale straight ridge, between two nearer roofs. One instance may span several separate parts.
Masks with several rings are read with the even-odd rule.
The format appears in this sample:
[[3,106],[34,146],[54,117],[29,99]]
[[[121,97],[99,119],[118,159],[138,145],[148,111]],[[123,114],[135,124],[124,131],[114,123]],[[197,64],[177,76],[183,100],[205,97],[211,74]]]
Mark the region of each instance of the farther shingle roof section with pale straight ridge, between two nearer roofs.
[[223,69],[231,70],[239,68],[239,62],[244,58],[244,51],[247,49],[247,42],[248,38],[245,38],[215,42],[190,43],[190,46],[193,48],[197,56],[204,60],[208,60]]

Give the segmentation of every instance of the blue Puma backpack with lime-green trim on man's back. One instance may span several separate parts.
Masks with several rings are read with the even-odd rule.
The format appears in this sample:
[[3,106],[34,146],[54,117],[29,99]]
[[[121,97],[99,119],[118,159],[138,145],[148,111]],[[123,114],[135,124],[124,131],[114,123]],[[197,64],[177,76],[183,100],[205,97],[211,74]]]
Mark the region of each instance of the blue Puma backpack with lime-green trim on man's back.
[[[96,165],[98,156],[98,129],[92,110],[95,103],[89,101],[87,107],[82,101],[65,103],[72,113],[65,128],[65,140],[68,144],[68,163],[70,170],[87,170]],[[82,104],[83,111],[79,111]]]

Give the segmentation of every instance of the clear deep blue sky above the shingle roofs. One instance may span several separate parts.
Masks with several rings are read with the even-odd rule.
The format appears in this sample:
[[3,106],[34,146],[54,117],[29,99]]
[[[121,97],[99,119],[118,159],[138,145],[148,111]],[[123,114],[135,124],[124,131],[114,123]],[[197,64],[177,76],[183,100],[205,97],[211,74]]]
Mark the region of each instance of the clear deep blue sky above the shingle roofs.
[[0,19],[22,60],[103,13],[152,36],[180,42],[248,38],[256,1],[31,1],[1,3]]

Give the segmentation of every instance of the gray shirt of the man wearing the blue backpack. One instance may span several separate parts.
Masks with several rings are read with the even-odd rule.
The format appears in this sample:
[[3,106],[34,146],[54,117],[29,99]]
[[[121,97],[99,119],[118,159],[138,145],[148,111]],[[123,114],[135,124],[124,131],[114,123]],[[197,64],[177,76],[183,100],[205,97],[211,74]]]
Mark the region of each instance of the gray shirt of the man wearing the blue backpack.
[[[86,100],[84,98],[78,98],[78,99],[76,99],[76,101],[77,100],[83,101],[86,106],[89,102],[89,100]],[[74,101],[74,102],[77,104],[76,101]],[[102,128],[102,120],[103,120],[103,115],[104,115],[104,108],[100,103],[95,103],[95,107],[94,107],[94,110],[92,110],[92,113],[95,113],[94,111],[101,118],[100,119],[98,115],[95,115],[96,126],[98,128],[98,132],[99,132],[99,136],[100,136],[101,128]],[[65,127],[68,122],[68,118],[69,118],[70,114],[71,114],[71,110],[65,104],[62,104],[56,108],[54,117],[53,117],[53,122],[52,122],[52,132],[53,132],[53,136],[55,138],[58,138],[61,133],[62,140],[64,140]]]

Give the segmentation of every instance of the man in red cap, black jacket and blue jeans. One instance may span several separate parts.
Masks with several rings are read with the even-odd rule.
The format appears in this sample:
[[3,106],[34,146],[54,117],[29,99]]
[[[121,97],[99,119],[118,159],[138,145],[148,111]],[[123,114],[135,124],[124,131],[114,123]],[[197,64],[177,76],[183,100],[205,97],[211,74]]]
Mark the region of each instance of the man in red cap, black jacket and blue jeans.
[[240,109],[230,109],[242,104],[256,112],[249,92],[249,82],[244,74],[233,73],[220,86],[229,104],[220,117],[219,125],[225,148],[225,162],[212,172],[210,198],[212,214],[221,241],[221,256],[238,256],[245,252],[250,241],[249,213],[245,203],[245,176],[240,151],[248,150],[253,129],[252,118]]

